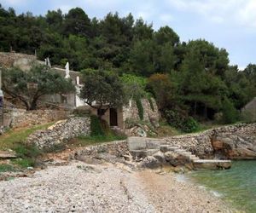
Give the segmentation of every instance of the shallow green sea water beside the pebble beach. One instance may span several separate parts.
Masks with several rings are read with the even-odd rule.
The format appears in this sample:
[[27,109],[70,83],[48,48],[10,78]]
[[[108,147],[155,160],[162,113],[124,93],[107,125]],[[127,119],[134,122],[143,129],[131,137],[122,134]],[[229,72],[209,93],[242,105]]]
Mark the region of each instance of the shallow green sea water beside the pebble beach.
[[256,161],[234,161],[230,170],[201,170],[189,178],[238,210],[256,212]]

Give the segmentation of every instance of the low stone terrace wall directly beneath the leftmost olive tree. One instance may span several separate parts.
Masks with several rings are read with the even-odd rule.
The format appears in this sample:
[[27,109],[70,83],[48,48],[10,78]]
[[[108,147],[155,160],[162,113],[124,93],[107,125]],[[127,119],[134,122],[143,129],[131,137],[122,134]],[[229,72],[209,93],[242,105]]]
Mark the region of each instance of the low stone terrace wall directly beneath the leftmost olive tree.
[[67,118],[70,111],[66,110],[33,110],[12,108],[4,114],[5,124],[12,128],[26,127],[37,124],[45,124],[52,121]]

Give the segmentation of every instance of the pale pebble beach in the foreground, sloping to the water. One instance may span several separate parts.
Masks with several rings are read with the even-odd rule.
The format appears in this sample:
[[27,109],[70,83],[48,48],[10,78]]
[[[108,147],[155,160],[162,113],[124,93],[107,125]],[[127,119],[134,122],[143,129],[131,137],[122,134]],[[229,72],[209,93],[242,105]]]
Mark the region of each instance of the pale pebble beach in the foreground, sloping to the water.
[[173,174],[72,162],[0,181],[0,212],[231,212]]

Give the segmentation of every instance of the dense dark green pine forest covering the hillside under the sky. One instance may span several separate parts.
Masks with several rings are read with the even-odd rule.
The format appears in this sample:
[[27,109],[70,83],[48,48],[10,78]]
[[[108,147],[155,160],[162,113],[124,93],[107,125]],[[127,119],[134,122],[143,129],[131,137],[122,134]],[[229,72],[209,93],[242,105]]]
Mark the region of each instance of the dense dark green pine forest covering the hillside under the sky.
[[0,26],[0,51],[36,50],[39,59],[57,65],[68,60],[76,71],[111,70],[130,97],[154,95],[170,124],[176,115],[206,120],[217,113],[223,123],[234,122],[237,110],[256,96],[256,65],[239,71],[225,49],[202,39],[182,43],[171,27],[154,31],[132,14],[97,20],[79,8],[34,16],[0,7]]

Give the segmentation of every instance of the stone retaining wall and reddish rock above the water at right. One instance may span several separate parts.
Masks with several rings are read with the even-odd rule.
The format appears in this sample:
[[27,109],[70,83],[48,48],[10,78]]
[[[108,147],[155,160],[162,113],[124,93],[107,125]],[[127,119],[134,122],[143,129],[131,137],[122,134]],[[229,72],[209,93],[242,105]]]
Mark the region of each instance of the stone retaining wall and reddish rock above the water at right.
[[256,124],[236,124],[165,138],[200,158],[256,159]]

